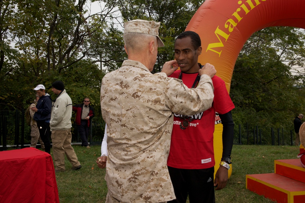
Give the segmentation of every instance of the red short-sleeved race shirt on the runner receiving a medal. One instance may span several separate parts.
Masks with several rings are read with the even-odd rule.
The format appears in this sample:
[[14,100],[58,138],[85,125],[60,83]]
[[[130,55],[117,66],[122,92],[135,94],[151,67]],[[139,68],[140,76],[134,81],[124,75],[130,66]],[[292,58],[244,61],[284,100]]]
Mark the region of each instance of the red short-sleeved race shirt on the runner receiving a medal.
[[[178,78],[180,72],[181,70],[175,71],[169,77]],[[197,75],[198,73],[182,73],[182,81],[191,88]],[[213,133],[215,124],[220,123],[220,118],[216,115],[228,113],[234,108],[234,104],[224,81],[216,75],[212,81],[214,100],[210,109],[190,116],[190,126],[184,130],[180,128],[182,115],[174,114],[168,166],[180,169],[205,169],[215,165]]]

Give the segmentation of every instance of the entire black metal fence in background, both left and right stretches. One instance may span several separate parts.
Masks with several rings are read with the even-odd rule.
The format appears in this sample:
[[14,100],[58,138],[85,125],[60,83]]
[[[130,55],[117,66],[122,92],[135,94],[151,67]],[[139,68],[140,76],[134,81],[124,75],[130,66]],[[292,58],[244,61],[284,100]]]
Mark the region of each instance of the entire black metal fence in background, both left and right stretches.
[[[30,145],[31,128],[25,123],[25,110],[0,111],[0,150],[7,147],[23,148]],[[290,129],[260,129],[246,124],[235,124],[234,144],[242,145],[293,145],[295,133]],[[93,118],[90,126],[90,145],[100,145],[104,136],[105,122],[101,118]],[[77,125],[72,124],[72,144],[81,144],[77,133]],[[39,147],[40,145],[38,145]]]

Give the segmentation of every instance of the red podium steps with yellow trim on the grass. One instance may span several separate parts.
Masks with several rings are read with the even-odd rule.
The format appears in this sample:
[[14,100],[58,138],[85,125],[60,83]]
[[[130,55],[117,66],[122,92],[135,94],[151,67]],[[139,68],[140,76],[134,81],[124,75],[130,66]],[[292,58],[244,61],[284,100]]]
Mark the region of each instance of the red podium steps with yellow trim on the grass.
[[274,160],[274,173],[246,175],[246,188],[278,203],[304,203],[305,168],[300,159]]

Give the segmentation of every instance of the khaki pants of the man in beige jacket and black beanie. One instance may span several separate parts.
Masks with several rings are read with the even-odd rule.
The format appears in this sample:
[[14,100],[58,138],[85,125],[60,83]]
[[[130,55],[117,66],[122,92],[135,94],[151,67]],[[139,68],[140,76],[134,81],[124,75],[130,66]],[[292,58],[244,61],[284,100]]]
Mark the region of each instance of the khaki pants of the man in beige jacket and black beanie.
[[64,171],[65,168],[65,154],[73,167],[81,165],[77,160],[77,156],[71,146],[71,129],[69,130],[53,130],[52,131],[52,149],[55,163],[55,170]]

